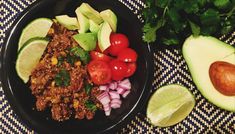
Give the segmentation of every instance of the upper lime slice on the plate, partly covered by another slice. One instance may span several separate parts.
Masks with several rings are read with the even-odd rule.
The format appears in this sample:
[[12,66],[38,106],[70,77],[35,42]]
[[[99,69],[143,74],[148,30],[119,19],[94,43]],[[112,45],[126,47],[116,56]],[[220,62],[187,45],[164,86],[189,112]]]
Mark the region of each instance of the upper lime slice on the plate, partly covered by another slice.
[[18,50],[31,38],[46,37],[52,23],[52,20],[48,18],[38,18],[30,22],[22,31],[18,43]]

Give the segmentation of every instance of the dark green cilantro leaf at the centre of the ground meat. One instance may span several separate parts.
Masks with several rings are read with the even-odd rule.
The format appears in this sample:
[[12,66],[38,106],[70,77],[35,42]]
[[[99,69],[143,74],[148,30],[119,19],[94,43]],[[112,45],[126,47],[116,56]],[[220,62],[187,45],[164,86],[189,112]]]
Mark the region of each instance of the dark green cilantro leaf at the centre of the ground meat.
[[55,75],[56,86],[69,86],[70,84],[70,74],[67,70],[62,69]]

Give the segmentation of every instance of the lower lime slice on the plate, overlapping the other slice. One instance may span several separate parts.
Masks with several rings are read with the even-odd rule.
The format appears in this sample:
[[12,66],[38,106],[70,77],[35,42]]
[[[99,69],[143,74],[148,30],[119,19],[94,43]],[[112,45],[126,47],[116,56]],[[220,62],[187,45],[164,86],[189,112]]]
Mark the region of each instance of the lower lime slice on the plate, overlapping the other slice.
[[48,42],[46,38],[35,37],[28,40],[20,49],[16,60],[16,71],[25,83],[28,82],[29,76],[38,64]]

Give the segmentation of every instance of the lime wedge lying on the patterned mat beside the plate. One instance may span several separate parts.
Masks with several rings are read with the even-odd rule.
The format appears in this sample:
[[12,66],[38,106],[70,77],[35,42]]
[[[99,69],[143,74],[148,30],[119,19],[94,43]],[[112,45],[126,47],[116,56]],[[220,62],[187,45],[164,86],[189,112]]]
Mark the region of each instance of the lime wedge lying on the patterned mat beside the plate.
[[163,86],[150,98],[147,117],[155,126],[172,126],[185,119],[194,105],[194,96],[187,88],[176,84]]

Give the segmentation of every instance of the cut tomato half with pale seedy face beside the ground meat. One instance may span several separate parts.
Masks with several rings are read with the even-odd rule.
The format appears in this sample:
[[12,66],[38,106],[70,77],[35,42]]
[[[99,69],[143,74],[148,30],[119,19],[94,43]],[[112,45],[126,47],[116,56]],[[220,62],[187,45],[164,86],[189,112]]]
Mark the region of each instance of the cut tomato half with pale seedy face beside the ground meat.
[[103,85],[111,81],[111,69],[108,63],[93,60],[88,64],[88,72],[94,84]]

